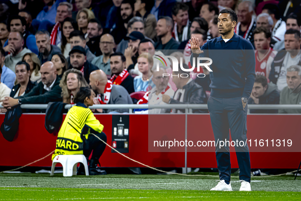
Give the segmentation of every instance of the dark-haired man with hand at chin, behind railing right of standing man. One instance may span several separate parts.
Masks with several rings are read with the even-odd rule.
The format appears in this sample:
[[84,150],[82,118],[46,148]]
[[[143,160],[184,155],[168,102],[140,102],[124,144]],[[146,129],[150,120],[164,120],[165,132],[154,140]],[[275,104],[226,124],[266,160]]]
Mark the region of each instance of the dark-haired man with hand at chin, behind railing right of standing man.
[[[279,104],[280,91],[276,84],[267,83],[266,77],[258,74],[248,104]],[[251,110],[250,113],[278,113],[278,110]]]

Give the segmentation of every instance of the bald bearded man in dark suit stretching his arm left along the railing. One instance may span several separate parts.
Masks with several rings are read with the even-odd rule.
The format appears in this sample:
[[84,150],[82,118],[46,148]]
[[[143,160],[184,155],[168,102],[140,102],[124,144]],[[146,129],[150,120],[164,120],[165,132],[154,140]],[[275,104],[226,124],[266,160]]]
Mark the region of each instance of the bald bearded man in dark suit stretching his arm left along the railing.
[[61,102],[62,89],[59,86],[60,78],[57,69],[51,61],[45,62],[40,69],[42,81],[28,94],[17,98],[5,97],[3,106],[11,108],[21,104],[48,104],[49,102]]

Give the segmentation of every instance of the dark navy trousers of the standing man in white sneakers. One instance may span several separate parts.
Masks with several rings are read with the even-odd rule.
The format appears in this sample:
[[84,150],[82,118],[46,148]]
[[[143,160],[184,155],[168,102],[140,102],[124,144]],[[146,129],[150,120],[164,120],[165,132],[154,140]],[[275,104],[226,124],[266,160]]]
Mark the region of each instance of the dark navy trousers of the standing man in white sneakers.
[[[229,129],[232,141],[247,141],[247,112],[248,104],[243,109],[241,97],[218,98],[210,96],[208,110],[215,139],[215,155],[220,180],[226,183],[231,179],[231,164],[229,144],[220,147],[220,142],[229,141]],[[217,144],[218,142],[218,144]],[[242,142],[241,142],[242,144]],[[232,144],[233,145],[233,144]],[[235,144],[235,152],[239,166],[239,180],[251,181],[251,162],[248,144]]]

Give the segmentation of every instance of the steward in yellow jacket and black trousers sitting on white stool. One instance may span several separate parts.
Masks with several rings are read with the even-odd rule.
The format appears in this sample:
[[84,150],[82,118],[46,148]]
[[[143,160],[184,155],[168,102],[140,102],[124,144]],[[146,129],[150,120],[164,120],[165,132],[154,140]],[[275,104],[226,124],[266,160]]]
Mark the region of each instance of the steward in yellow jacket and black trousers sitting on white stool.
[[[52,155],[52,160],[57,155],[84,154],[88,160],[92,150],[93,154],[89,162],[89,174],[106,174],[105,170],[100,170],[97,166],[102,155],[105,144],[91,133],[97,135],[106,142],[106,135],[102,132],[103,125],[95,118],[88,108],[93,105],[95,93],[89,87],[80,87],[73,106],[66,115],[60,129],[56,150]],[[77,174],[85,174],[83,165],[79,166]]]

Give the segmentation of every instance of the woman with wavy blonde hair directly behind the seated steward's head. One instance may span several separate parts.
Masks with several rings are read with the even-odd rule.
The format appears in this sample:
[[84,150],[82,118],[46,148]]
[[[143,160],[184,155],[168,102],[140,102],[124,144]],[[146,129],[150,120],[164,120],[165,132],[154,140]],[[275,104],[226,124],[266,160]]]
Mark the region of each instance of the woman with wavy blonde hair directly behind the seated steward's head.
[[63,102],[67,104],[74,104],[74,95],[80,87],[89,87],[83,74],[74,68],[64,72],[62,80],[60,81],[62,88]]

